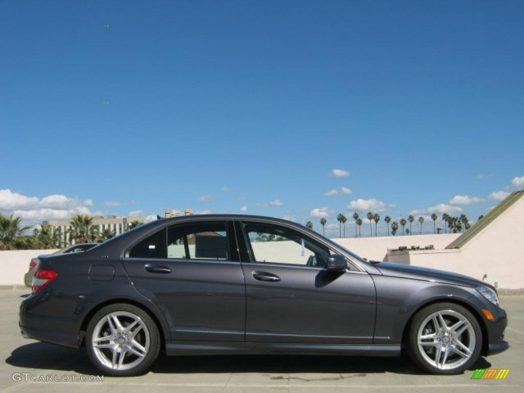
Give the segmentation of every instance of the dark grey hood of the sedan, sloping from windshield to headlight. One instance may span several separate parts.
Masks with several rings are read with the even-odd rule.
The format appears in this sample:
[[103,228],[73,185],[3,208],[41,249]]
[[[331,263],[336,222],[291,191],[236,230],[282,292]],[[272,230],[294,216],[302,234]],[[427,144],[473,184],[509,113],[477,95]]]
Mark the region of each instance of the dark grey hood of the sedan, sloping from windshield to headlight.
[[478,287],[479,285],[483,285],[495,289],[486,282],[472,277],[463,276],[461,274],[452,273],[450,271],[382,262],[375,265],[375,267],[378,268],[378,270],[380,270],[384,276],[409,278],[413,280],[436,281],[467,287]]

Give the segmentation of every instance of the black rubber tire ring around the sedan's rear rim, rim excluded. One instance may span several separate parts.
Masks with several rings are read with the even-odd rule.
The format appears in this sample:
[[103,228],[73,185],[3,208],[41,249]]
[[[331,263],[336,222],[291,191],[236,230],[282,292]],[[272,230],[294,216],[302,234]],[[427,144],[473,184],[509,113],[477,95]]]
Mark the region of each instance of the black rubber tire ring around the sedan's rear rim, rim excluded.
[[[149,331],[149,351],[145,356],[144,360],[136,367],[127,369],[127,370],[114,370],[108,368],[101,364],[94,354],[93,347],[91,346],[91,337],[93,336],[93,331],[96,324],[102,319],[105,315],[111,312],[117,311],[127,311],[133,313],[140,317],[140,319],[146,324],[147,330]],[[155,321],[151,319],[149,314],[143,309],[136,307],[132,304],[127,303],[115,303],[107,305],[106,307],[97,311],[88,324],[88,329],[85,334],[85,348],[88,353],[89,359],[93,365],[101,370],[105,375],[111,375],[115,377],[127,377],[135,376],[145,373],[149,367],[155,362],[160,352],[160,334],[158,332],[157,325]]]

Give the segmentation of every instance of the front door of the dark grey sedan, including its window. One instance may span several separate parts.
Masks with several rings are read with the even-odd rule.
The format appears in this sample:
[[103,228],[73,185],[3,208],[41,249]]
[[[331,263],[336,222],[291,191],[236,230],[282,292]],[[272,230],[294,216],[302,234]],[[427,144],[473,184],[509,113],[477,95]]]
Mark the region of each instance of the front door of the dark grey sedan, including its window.
[[[284,224],[243,221],[246,341],[368,344],[376,294],[372,278],[348,264],[328,272],[333,250]],[[248,259],[248,260],[246,260]]]

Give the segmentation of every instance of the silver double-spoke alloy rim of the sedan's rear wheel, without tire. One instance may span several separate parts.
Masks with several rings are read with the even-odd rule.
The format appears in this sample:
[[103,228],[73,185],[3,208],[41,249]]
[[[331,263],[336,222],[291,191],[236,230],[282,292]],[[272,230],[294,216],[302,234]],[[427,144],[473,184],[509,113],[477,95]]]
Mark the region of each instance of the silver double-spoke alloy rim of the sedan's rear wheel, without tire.
[[144,361],[150,334],[146,324],[132,312],[114,311],[95,325],[91,346],[96,359],[113,370],[128,370]]

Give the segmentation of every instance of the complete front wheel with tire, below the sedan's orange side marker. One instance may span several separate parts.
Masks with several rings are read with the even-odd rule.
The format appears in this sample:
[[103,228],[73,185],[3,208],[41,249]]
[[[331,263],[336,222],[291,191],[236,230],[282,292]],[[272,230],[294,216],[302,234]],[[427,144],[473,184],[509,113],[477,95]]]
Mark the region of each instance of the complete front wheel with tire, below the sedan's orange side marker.
[[481,350],[481,326],[461,305],[431,304],[411,320],[407,352],[431,374],[461,374],[477,361]]

